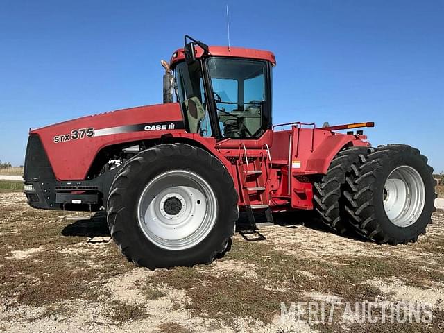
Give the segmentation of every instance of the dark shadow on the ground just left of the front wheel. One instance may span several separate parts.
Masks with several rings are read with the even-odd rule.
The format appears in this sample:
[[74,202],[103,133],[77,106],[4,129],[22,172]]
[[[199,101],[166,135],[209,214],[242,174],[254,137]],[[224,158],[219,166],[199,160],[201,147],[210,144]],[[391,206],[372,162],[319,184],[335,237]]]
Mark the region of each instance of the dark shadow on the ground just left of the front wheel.
[[106,223],[106,213],[96,212],[89,219],[80,218],[62,229],[62,235],[68,237],[110,237]]

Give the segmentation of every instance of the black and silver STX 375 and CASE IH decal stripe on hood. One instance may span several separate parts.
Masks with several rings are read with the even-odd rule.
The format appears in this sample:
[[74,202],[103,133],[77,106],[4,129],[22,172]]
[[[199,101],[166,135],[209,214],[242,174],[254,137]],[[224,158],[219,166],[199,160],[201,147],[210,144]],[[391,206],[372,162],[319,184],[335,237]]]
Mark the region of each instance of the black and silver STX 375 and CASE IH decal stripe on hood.
[[101,128],[94,130],[94,128],[79,128],[71,130],[71,133],[64,135],[56,135],[53,142],[58,144],[60,142],[68,142],[76,139],[85,139],[85,137],[102,137],[103,135],[142,132],[146,130],[181,130],[185,128],[183,121],[169,121],[160,123],[137,123],[135,125],[117,126],[109,128]]

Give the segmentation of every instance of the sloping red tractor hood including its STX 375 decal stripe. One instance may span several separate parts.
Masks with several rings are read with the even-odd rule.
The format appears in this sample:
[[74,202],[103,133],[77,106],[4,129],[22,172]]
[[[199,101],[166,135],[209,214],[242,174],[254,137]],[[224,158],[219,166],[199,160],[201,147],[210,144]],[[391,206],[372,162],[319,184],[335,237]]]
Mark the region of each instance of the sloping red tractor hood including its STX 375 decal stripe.
[[56,179],[83,180],[102,148],[156,139],[172,131],[185,133],[182,110],[178,103],[141,106],[81,117],[31,130],[30,142],[31,137],[37,137],[44,151],[33,151],[28,143],[25,164],[43,153]]

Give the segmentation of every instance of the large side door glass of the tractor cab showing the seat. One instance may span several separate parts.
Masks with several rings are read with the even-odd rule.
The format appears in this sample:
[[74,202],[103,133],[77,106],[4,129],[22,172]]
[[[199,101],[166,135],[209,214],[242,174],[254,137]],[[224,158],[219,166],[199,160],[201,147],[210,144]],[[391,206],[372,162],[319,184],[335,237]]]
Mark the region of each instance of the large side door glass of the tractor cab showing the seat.
[[266,62],[214,57],[208,70],[223,137],[257,135],[266,101]]

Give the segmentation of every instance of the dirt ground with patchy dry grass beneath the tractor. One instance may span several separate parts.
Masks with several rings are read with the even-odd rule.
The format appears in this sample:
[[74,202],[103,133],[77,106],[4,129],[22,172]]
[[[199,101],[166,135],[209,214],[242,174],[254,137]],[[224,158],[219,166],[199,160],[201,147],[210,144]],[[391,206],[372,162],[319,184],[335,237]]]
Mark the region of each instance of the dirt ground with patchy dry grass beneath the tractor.
[[[77,217],[76,217],[77,216]],[[79,217],[83,216],[83,217]],[[444,213],[416,244],[340,237],[310,216],[276,216],[264,241],[236,234],[209,266],[149,271],[121,256],[103,214],[28,207],[0,193],[0,331],[442,332]],[[280,316],[282,303],[426,302],[429,323],[331,323]],[[342,307],[342,308],[341,308]]]

